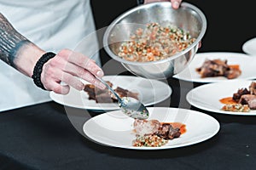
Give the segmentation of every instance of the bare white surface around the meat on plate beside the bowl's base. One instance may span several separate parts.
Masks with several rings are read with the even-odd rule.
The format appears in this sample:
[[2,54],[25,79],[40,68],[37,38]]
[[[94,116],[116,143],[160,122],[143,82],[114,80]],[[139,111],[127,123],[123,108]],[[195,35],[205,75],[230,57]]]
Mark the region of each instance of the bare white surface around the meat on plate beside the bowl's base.
[[225,77],[201,78],[200,74],[195,71],[195,69],[201,67],[205,59],[227,59],[228,65],[240,65],[241,75],[236,79],[248,80],[256,78],[256,58],[250,57],[247,54],[229,52],[208,52],[195,54],[195,58],[192,59],[189,66],[174,77],[189,82],[223,82],[229,80]]

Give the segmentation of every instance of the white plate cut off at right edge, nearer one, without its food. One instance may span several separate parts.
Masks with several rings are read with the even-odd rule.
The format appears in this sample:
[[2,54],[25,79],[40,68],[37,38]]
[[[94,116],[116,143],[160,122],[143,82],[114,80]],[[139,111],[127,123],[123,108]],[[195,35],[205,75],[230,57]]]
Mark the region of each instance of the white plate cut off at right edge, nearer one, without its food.
[[256,116],[256,111],[250,112],[233,112],[221,111],[224,104],[219,102],[219,99],[232,97],[239,88],[248,88],[252,81],[231,80],[227,82],[214,82],[204,84],[189,91],[186,96],[190,105],[205,110],[226,115],[240,116]]

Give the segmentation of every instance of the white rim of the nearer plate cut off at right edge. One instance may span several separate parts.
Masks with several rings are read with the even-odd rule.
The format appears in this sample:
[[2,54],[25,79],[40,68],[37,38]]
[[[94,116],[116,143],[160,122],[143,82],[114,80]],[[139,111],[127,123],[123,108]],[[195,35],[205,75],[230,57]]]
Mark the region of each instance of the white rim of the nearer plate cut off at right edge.
[[226,84],[226,83],[232,83],[232,82],[252,82],[252,80],[230,80],[227,82],[212,82],[212,83],[207,83],[207,84],[203,84],[199,87],[193,88],[191,89],[188,94],[186,94],[186,100],[189,102],[190,105],[195,106],[198,109],[201,109],[203,111],[210,111],[212,113],[218,113],[218,114],[222,114],[222,115],[231,115],[231,116],[256,116],[256,112],[234,112],[234,111],[221,111],[220,108],[219,110],[213,110],[207,107],[204,107],[202,105],[197,105],[195,100],[192,99],[191,95],[193,92],[195,92],[196,90],[200,90],[201,88],[208,88],[211,86],[214,86],[214,84]]

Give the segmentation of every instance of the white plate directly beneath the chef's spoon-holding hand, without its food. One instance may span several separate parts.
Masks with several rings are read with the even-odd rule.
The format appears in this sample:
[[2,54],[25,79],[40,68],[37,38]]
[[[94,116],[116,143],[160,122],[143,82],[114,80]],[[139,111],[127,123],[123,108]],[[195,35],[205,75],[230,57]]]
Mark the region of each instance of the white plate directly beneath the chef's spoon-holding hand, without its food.
[[[113,88],[119,86],[120,88],[125,88],[138,93],[139,100],[145,106],[160,103],[161,101],[169,98],[172,94],[172,88],[170,88],[170,86],[165,82],[133,76],[105,76],[102,78],[105,81],[112,82]],[[49,96],[61,105],[67,105],[79,109],[93,111],[113,111],[119,109],[119,106],[115,103],[96,103],[95,100],[88,99],[89,96],[86,92],[78,91],[74,88],[71,88],[67,95],[51,92]]]

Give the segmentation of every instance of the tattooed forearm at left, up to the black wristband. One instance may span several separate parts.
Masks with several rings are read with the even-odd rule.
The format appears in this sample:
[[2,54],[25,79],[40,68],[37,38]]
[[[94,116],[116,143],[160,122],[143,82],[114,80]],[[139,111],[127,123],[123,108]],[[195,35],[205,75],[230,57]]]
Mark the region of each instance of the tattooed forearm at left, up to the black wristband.
[[0,59],[28,77],[44,51],[23,37],[0,13]]

